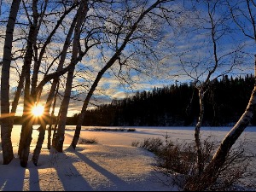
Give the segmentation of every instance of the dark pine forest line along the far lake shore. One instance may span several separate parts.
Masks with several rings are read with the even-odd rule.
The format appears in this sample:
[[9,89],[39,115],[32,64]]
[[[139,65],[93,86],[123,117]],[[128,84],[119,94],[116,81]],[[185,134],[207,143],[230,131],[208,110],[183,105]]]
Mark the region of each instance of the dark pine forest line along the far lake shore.
[[[203,125],[233,125],[247,107],[253,84],[253,75],[216,79],[206,97]],[[89,110],[83,125],[195,125],[198,113],[198,91],[193,84],[172,84]],[[68,124],[75,125],[78,116],[73,115]],[[256,118],[251,124],[256,124]]]

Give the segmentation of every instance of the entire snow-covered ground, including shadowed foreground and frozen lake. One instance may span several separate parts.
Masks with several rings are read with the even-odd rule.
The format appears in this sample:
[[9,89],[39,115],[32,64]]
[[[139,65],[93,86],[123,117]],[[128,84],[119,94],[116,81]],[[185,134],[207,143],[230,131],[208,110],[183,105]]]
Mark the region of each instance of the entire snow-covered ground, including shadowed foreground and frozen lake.
[[[32,135],[31,153],[38,138],[37,126]],[[160,180],[165,177],[154,171],[154,154],[142,148],[131,147],[134,141],[143,141],[149,137],[161,137],[166,134],[173,141],[190,143],[194,139],[194,127],[112,127],[134,128],[136,131],[93,131],[83,127],[81,137],[96,138],[97,144],[78,145],[76,151],[69,147],[75,126],[67,126],[64,153],[57,154],[46,148],[46,139],[38,166],[32,161],[26,169],[20,167],[15,158],[10,165],[3,166],[0,148],[0,190],[104,190],[104,191],[170,191],[175,187],[166,186]],[[110,128],[110,127],[105,127]],[[89,129],[89,130],[88,130]],[[221,141],[230,127],[203,127],[201,138]],[[47,138],[47,136],[45,137]],[[17,155],[20,139],[20,125],[12,131],[12,141]],[[253,154],[256,148],[256,127],[247,127],[237,143],[244,143],[246,152]],[[30,155],[32,157],[32,154]],[[251,164],[252,168],[255,165]]]

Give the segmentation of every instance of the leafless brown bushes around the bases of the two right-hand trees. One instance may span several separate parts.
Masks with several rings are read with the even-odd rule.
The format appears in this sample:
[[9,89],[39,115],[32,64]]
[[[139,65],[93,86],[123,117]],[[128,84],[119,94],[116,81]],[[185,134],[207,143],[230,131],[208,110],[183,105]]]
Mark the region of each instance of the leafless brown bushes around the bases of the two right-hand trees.
[[[155,170],[169,177],[169,185],[183,189],[187,183],[195,183],[199,177],[197,169],[197,153],[195,143],[174,143],[166,135],[165,140],[148,138],[143,142],[133,142],[132,146],[144,148],[155,154]],[[206,167],[218,143],[204,140],[201,143],[203,165]],[[247,160],[241,147],[233,149],[218,171],[218,180],[206,190],[236,189],[236,183],[241,181],[247,172]],[[166,183],[165,183],[166,184]]]

